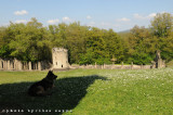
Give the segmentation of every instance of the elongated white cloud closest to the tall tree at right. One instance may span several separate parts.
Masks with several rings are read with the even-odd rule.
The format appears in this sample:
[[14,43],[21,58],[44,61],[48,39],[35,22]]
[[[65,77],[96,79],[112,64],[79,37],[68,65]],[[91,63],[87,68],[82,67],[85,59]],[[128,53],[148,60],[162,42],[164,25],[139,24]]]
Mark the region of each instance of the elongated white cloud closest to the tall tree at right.
[[137,20],[150,20],[150,18],[155,17],[156,15],[157,15],[156,13],[150,13],[150,14],[144,16],[144,15],[139,15],[136,13],[136,14],[133,14],[133,17],[137,18]]

